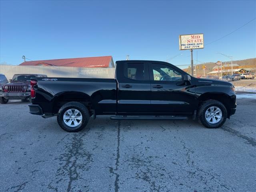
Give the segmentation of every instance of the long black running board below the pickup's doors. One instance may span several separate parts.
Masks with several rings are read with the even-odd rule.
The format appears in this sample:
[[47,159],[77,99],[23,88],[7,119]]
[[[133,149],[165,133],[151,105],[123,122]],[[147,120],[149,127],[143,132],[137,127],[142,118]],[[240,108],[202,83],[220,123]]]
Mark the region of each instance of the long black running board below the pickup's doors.
[[186,116],[111,116],[112,120],[185,120]]

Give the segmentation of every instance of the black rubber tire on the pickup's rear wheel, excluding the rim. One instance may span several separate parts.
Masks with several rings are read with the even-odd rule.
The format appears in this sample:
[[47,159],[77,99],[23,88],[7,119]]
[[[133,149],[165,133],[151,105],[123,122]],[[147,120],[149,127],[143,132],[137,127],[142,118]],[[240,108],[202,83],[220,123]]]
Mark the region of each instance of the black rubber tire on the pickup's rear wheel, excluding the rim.
[[[68,109],[77,109],[78,111],[80,111],[82,114],[82,123],[80,123],[78,126],[75,126],[75,127],[66,125],[63,120],[63,115]],[[82,130],[87,125],[89,118],[90,118],[90,114],[88,109],[86,108],[86,106],[84,106],[80,102],[68,102],[64,104],[58,111],[58,115],[57,115],[57,121],[59,126],[67,132],[78,132]]]

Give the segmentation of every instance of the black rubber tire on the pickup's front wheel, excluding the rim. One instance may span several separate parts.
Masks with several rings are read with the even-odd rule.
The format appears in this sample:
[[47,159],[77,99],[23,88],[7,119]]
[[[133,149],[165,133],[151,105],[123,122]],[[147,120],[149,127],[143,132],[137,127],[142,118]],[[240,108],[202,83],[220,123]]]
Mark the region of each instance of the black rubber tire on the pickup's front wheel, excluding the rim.
[[[220,108],[221,112],[222,112],[222,117],[220,119],[219,122],[217,123],[209,123],[206,120],[206,110],[211,107],[211,106],[216,106],[218,108]],[[199,122],[205,126],[206,128],[219,128],[221,127],[227,119],[227,110],[226,107],[224,106],[224,104],[222,104],[221,102],[217,101],[217,100],[206,100],[202,103],[202,105],[200,106],[200,109],[198,111],[198,120]]]

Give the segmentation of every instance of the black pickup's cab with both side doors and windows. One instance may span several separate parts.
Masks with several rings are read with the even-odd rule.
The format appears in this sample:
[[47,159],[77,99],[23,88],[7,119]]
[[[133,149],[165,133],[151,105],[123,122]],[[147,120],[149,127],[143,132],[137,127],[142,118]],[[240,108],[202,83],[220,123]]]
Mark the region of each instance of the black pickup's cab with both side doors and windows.
[[185,88],[194,79],[186,72],[164,62],[121,61],[116,64],[118,114],[193,113],[195,88]]

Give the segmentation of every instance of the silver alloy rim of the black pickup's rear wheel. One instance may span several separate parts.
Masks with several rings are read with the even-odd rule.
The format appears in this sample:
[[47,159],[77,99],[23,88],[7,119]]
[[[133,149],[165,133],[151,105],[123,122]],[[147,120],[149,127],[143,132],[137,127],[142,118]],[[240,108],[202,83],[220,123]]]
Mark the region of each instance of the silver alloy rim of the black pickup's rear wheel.
[[76,127],[82,123],[83,116],[77,109],[68,109],[63,114],[64,123],[70,127]]

